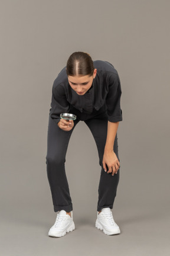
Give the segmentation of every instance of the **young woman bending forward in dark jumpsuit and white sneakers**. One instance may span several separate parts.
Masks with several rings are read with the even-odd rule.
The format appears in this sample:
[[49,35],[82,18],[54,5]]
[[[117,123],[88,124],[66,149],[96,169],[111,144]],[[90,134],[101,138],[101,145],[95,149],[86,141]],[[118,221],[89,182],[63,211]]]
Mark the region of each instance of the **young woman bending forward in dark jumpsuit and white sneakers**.
[[[89,127],[99,153],[99,200],[96,228],[107,235],[120,233],[113,219],[113,203],[119,183],[120,159],[117,145],[117,128],[122,121],[119,75],[112,64],[102,60],[93,62],[90,55],[74,52],[54,81],[47,139],[47,176],[57,217],[48,232],[60,237],[73,231],[73,204],[66,171],[66,152],[71,133],[79,121]],[[71,113],[76,120],[60,118]]]

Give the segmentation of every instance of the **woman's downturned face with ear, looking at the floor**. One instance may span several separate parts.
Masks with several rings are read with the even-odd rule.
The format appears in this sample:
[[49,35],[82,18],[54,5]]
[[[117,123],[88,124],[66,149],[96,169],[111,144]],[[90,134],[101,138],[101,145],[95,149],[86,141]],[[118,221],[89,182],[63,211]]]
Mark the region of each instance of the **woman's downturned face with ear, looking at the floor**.
[[76,91],[79,95],[84,95],[91,87],[93,83],[93,79],[95,78],[97,73],[97,69],[94,69],[94,73],[92,76],[69,76],[68,82],[71,88]]

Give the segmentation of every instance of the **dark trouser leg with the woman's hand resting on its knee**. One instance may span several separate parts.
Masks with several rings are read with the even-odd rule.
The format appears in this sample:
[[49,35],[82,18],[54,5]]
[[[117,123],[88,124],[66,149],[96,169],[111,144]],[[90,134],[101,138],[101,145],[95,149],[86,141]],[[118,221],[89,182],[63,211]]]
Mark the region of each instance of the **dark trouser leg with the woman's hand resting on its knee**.
[[[99,199],[97,202],[97,211],[99,212],[104,207],[110,207],[113,209],[113,203],[116,197],[117,185],[119,183],[119,170],[117,174],[112,176],[112,173],[107,174],[107,172],[103,169],[103,153],[104,153],[104,146],[106,143],[107,137],[107,116],[104,114],[94,118],[86,120],[85,123],[91,130],[93,134],[94,140],[97,145],[97,150],[99,153],[99,164],[102,167],[100,172],[100,181],[99,181]],[[119,159],[118,155],[118,144],[117,144],[117,133],[115,137],[115,142],[113,146],[113,151],[116,153],[116,156]]]

